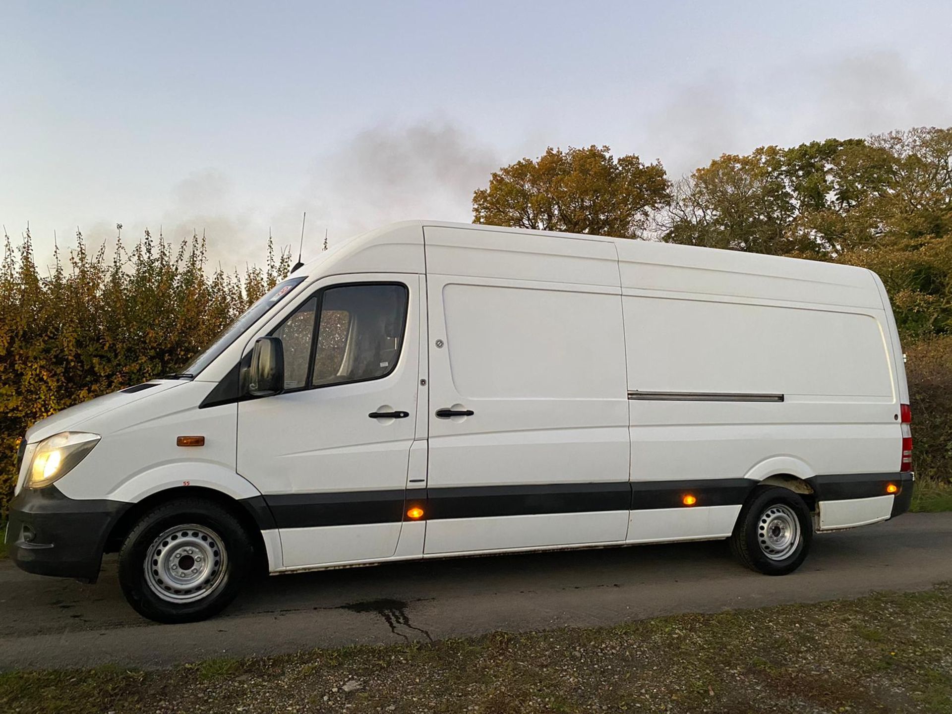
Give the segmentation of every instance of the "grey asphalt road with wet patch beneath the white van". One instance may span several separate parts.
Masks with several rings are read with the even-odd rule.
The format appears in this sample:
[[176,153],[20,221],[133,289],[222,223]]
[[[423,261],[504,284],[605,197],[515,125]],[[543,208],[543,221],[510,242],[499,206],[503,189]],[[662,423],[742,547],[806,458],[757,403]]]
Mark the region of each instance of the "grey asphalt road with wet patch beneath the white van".
[[154,667],[493,630],[611,625],[942,581],[952,581],[952,513],[908,514],[819,535],[800,570],[782,578],[737,565],[724,542],[401,563],[264,578],[222,615],[193,625],[139,617],[123,600],[114,556],[97,585],[28,575],[5,560],[0,669]]

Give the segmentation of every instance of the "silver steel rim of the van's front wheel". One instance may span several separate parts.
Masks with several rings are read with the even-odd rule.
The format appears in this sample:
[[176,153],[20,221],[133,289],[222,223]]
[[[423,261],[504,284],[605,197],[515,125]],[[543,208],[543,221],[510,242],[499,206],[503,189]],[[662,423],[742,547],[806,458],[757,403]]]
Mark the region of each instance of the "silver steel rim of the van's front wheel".
[[185,524],[152,541],[144,565],[152,592],[169,603],[191,603],[222,584],[228,553],[211,528]]

